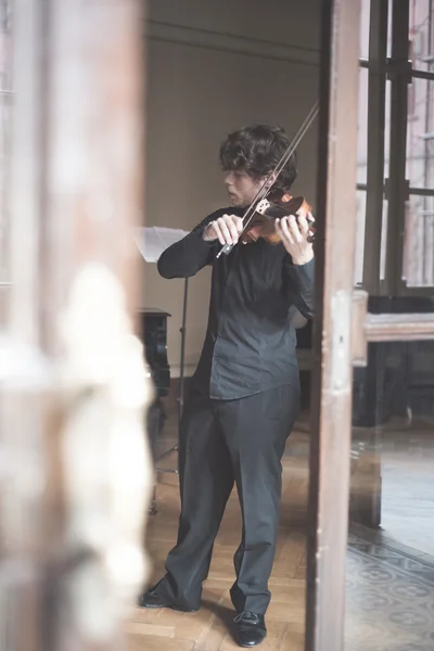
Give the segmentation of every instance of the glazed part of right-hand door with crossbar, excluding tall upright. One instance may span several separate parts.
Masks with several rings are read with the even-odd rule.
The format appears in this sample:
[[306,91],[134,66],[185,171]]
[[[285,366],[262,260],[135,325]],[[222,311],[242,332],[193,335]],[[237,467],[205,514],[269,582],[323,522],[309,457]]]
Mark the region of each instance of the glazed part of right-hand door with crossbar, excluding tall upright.
[[366,191],[378,201],[371,199],[373,210],[366,213],[371,247],[363,259],[367,293],[359,298],[375,315],[363,326],[366,366],[354,371],[345,649],[427,651],[434,609],[433,3],[372,3],[374,13],[380,21],[371,21],[367,69],[376,80],[368,101],[375,106],[375,90],[379,101],[368,122],[371,131],[375,124],[382,130],[376,161],[368,157],[368,175],[373,179],[378,169],[378,177]]

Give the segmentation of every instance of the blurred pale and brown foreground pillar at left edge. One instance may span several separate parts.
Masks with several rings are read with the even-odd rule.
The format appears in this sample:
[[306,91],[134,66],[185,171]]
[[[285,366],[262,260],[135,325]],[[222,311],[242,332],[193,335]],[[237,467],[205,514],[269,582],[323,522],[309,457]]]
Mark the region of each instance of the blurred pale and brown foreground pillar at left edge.
[[0,649],[117,651],[149,574],[152,388],[132,238],[144,2],[2,5],[13,92],[1,152]]

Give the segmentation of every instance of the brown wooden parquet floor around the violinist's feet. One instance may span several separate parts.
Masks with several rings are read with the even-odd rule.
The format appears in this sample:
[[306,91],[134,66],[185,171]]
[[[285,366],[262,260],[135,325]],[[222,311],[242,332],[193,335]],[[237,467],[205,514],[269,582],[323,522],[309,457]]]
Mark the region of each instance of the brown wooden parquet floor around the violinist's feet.
[[[174,458],[175,459],[175,458]],[[267,611],[268,637],[261,651],[303,651],[306,573],[307,436],[293,432],[283,459],[283,496],[276,562]],[[157,484],[158,513],[150,519],[146,548],[153,562],[151,584],[164,573],[174,546],[179,496],[177,475],[162,474]],[[233,553],[241,537],[241,513],[233,493],[216,539],[202,608],[196,613],[136,609],[127,623],[128,651],[229,651],[235,615],[229,597]]]

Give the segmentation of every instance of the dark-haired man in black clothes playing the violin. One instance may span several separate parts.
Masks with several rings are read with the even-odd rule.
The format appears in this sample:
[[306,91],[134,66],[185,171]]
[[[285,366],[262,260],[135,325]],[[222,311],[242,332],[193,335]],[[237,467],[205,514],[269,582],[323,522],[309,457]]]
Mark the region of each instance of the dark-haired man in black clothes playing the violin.
[[[258,644],[267,634],[281,459],[299,407],[292,318],[296,310],[312,316],[311,215],[277,219],[281,242],[276,245],[263,238],[239,242],[245,208],[289,144],[283,129],[266,125],[228,136],[220,161],[232,207],[206,217],[158,260],[164,278],[192,277],[206,265],[213,275],[205,342],[180,427],[178,540],[165,576],[139,604],[184,612],[200,608],[214,540],[235,486],[243,527],[230,595],[242,647]],[[296,174],[293,155],[273,181],[273,195],[288,193]],[[218,256],[225,244],[235,246]]]

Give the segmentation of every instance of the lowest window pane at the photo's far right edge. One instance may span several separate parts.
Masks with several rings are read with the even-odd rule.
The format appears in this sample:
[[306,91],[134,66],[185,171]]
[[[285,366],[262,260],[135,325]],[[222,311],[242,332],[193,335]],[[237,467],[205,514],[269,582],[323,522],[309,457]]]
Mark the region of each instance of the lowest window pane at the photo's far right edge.
[[409,288],[434,286],[434,197],[414,196],[406,204],[403,280]]

